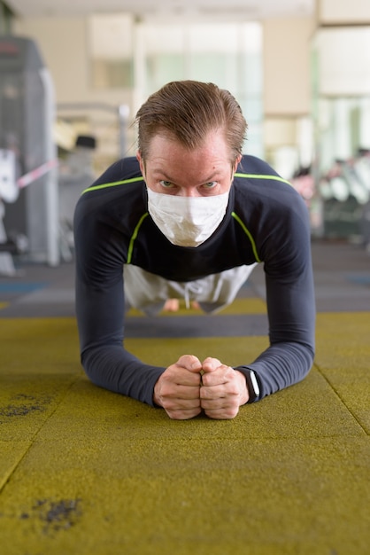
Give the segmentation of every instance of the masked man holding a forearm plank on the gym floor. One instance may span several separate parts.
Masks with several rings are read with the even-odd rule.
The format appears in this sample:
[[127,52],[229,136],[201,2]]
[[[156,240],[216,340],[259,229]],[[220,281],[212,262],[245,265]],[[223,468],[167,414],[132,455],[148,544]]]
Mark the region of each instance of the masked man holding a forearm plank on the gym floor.
[[[247,124],[226,90],[168,83],[136,122],[137,157],[108,168],[76,207],[81,362],[96,385],[161,406],[170,418],[202,410],[234,418],[243,404],[296,383],[311,368],[307,210],[264,161],[242,156]],[[181,295],[214,311],[233,301],[259,262],[270,346],[257,360],[231,368],[212,353],[204,361],[183,355],[162,368],[123,347],[124,293],[147,314]]]

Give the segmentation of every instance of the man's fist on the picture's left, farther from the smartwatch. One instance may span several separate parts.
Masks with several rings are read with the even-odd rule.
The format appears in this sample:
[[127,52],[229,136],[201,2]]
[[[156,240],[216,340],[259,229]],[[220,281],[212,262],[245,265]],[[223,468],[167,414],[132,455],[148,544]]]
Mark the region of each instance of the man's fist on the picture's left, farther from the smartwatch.
[[194,418],[202,410],[200,384],[202,364],[197,356],[183,355],[168,366],[154,386],[153,401],[166,410],[170,418]]

